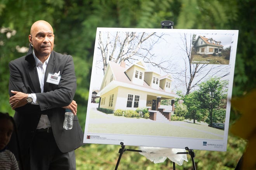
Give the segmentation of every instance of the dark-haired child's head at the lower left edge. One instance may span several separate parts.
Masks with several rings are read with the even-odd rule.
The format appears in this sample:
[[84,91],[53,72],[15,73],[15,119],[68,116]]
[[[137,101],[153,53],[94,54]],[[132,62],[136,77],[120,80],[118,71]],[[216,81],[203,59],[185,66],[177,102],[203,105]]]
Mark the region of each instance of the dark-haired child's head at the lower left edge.
[[0,150],[3,150],[10,141],[14,123],[8,113],[0,112]]

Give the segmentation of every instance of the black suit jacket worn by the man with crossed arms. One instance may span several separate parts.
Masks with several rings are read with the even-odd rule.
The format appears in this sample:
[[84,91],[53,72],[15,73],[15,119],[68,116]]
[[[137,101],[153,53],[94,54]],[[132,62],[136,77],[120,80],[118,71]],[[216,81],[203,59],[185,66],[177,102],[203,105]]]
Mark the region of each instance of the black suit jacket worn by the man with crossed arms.
[[[36,93],[39,103],[39,105],[26,104],[15,109],[14,120],[18,130],[21,153],[28,152],[41,114],[48,115],[55,141],[63,153],[80,147],[83,144],[83,131],[78,117],[74,117],[73,129],[63,129],[65,109],[62,107],[71,103],[76,90],[72,56],[52,51],[45,72],[43,93],[40,90],[35,59],[31,51],[26,56],[10,61],[9,69],[9,95],[13,95],[10,90]],[[59,71],[61,75],[59,85],[46,82],[48,73],[54,74]]]

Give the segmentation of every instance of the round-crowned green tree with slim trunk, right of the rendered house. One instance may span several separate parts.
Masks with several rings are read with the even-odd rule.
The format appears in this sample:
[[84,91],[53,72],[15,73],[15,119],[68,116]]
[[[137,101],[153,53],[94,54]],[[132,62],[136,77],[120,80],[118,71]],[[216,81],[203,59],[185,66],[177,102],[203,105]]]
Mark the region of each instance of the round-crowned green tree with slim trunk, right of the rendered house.
[[227,95],[227,80],[220,80],[220,78],[210,78],[206,82],[202,82],[197,92],[197,99],[200,102],[201,108],[209,111],[209,120],[211,126],[213,125],[213,111],[221,104],[223,96]]

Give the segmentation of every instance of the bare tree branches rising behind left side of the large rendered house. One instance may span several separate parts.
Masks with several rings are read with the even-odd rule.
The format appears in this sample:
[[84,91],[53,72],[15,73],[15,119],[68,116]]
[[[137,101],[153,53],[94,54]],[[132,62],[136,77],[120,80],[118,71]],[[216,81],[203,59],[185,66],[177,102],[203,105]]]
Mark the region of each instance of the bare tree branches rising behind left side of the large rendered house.
[[[162,64],[168,61],[154,62],[155,54],[151,53],[154,44],[162,39],[164,34],[157,35],[156,32],[99,32],[98,49],[103,61],[103,71],[105,73],[107,62],[113,61],[121,63],[121,61],[143,60],[152,66],[166,70]],[[135,57],[136,56],[136,57]]]

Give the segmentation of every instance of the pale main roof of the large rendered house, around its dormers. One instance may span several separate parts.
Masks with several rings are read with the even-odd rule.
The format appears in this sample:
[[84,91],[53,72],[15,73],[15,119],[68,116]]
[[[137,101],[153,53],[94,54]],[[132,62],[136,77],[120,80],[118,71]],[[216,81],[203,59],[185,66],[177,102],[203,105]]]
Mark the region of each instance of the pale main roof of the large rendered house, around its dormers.
[[[129,67],[130,68],[130,67]],[[145,81],[143,82],[143,85],[136,85],[131,82],[131,80],[128,78],[128,76],[125,74],[126,68],[121,67],[119,64],[114,63],[113,61],[109,61],[107,65],[107,70],[111,69],[113,76],[115,77],[115,80],[113,80],[111,83],[115,83],[114,86],[128,86],[135,89],[148,89],[147,91],[158,91],[159,93],[166,93],[162,88],[159,88],[159,90],[156,90],[152,87],[150,87]],[[105,74],[107,73],[107,70]],[[105,78],[105,76],[104,76]],[[110,84],[111,84],[110,83]],[[103,90],[103,89],[102,89]],[[169,92],[168,92],[169,93]],[[170,95],[176,96],[175,93],[170,92]]]

